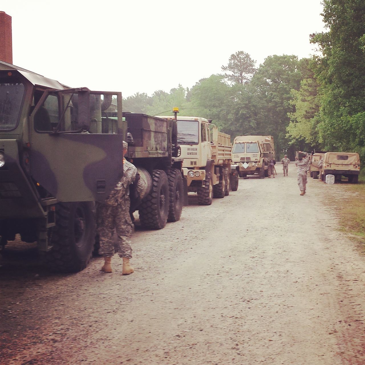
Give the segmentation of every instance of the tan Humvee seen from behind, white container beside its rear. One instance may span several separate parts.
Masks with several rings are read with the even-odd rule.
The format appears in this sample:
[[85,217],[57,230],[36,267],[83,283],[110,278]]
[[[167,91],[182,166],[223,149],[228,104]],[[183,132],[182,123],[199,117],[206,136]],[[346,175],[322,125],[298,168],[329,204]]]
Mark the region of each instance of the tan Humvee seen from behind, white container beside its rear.
[[332,174],[335,180],[341,180],[341,176],[345,176],[349,183],[356,184],[360,174],[360,156],[352,152],[326,152],[319,174],[324,182],[326,176]]

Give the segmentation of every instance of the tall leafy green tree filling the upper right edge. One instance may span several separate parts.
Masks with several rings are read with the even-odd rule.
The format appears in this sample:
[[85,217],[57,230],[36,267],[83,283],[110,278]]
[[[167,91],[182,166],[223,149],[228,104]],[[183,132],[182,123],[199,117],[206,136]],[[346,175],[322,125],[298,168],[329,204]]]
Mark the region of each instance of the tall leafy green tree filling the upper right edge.
[[327,149],[364,154],[365,7],[363,0],[324,0],[329,31],[312,35],[322,51],[315,77],[320,83],[319,141]]

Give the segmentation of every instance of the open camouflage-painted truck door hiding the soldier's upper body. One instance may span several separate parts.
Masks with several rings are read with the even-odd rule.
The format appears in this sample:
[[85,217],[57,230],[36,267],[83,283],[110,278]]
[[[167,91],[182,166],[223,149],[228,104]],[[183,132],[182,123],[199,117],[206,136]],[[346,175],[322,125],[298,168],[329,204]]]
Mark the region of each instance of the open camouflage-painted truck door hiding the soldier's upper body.
[[[90,92],[87,103],[74,95],[34,92],[29,117],[31,176],[59,201],[102,201],[123,173],[121,94]],[[118,120],[102,117],[113,110],[106,108],[107,99],[115,101],[114,109],[120,104]],[[76,120],[85,106],[91,111],[88,131],[80,130]]]

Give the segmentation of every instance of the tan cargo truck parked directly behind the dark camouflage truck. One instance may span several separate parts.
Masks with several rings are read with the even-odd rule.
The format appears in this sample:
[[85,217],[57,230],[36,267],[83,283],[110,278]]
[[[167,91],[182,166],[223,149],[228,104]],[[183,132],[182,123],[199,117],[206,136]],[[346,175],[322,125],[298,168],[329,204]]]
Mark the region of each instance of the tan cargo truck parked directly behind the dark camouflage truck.
[[[177,108],[174,108],[176,112]],[[183,176],[188,192],[196,192],[200,205],[229,195],[238,188],[238,174],[231,173],[231,137],[218,131],[211,120],[192,116],[160,116],[177,120]]]

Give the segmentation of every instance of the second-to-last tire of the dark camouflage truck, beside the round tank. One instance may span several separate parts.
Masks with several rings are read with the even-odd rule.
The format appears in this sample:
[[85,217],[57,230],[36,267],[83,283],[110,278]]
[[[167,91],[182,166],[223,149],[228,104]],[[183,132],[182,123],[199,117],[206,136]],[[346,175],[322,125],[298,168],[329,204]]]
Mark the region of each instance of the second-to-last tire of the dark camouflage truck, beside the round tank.
[[139,206],[139,221],[143,228],[161,229],[169,214],[169,183],[164,170],[153,170],[150,193]]

